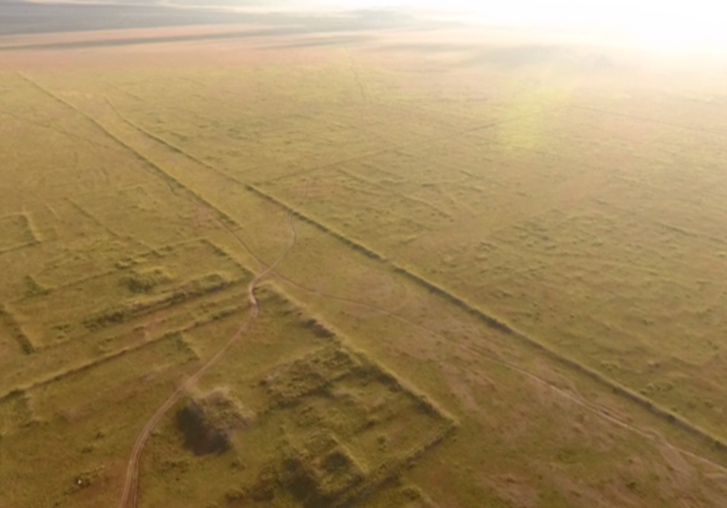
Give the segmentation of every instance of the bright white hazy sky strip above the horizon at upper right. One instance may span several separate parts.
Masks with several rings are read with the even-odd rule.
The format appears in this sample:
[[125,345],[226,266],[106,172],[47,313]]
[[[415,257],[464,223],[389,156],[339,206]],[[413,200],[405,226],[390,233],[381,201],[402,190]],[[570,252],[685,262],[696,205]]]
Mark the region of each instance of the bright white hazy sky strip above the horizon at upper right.
[[727,47],[724,0],[321,0],[345,7],[403,6],[498,25],[557,26],[619,31],[642,45]]

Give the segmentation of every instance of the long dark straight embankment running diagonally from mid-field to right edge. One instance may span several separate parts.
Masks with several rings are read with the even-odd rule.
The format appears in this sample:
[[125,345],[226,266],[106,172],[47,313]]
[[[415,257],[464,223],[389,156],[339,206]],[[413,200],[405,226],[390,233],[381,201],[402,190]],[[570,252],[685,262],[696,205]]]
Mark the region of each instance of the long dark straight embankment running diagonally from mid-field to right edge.
[[360,244],[359,242],[352,240],[351,238],[345,236],[344,234],[341,234],[337,231],[335,231],[333,228],[320,223],[319,221],[315,220],[314,218],[302,213],[299,210],[295,210],[293,207],[291,207],[288,204],[285,204],[283,201],[281,201],[279,198],[274,197],[271,194],[267,194],[264,191],[260,190],[259,188],[255,187],[254,185],[246,185],[246,188],[253,192],[254,194],[259,195],[263,199],[274,203],[278,206],[281,206],[285,210],[287,210],[289,213],[293,214],[295,217],[299,218],[300,220],[304,221],[306,224],[310,224],[314,226],[314,228],[318,229],[319,231],[324,232],[325,234],[329,234],[336,238],[341,243],[347,245],[348,247],[353,248],[354,250],[363,253],[367,257],[371,259],[375,259],[377,261],[383,262],[385,264],[388,264],[393,268],[393,270],[398,273],[402,274],[403,276],[409,278],[412,280],[415,284],[419,284],[423,286],[427,291],[429,291],[432,294],[436,294],[451,304],[454,304],[464,311],[468,312],[469,314],[473,314],[475,317],[477,317],[480,321],[482,321],[484,324],[487,324],[491,328],[497,330],[498,332],[501,332],[503,334],[507,334],[523,344],[528,345],[529,347],[532,347],[536,350],[538,350],[540,353],[545,354],[549,358],[553,359],[559,364],[563,364],[570,369],[573,369],[574,371],[578,372],[579,374],[583,374],[589,378],[591,378],[596,383],[600,383],[603,386],[607,387],[612,391],[612,393],[616,393],[617,395],[622,396],[625,399],[628,399],[632,403],[636,403],[639,406],[641,406],[643,409],[646,409],[648,412],[662,418],[667,423],[671,423],[672,425],[682,429],[683,431],[687,433],[691,433],[692,435],[704,440],[705,442],[709,443],[710,445],[714,446],[718,450],[727,451],[727,443],[721,438],[717,437],[715,435],[712,435],[712,433],[709,433],[708,431],[702,429],[695,423],[690,422],[689,420],[683,418],[679,414],[672,413],[668,409],[662,407],[658,403],[653,402],[648,397],[643,396],[641,393],[636,393],[632,389],[627,388],[626,386],[623,386],[621,383],[617,383],[616,381],[613,381],[611,378],[608,378],[604,376],[603,374],[599,373],[598,371],[593,370],[591,367],[588,367],[584,364],[581,364],[580,362],[574,360],[573,358],[568,357],[565,354],[562,354],[553,348],[549,347],[546,344],[543,344],[537,339],[534,339],[532,336],[528,334],[524,334],[523,332],[517,330],[513,327],[511,324],[505,323],[502,319],[494,317],[491,314],[488,314],[484,312],[482,309],[478,308],[474,304],[471,304],[470,302],[467,302],[464,298],[457,296],[456,294],[453,294],[452,292],[444,289],[442,286],[438,284],[434,284],[432,281],[429,281],[425,279],[422,275],[415,274],[411,269],[404,268],[403,266],[394,263],[390,259],[387,259],[386,256],[383,254],[379,254],[370,247],[365,246],[364,244]]

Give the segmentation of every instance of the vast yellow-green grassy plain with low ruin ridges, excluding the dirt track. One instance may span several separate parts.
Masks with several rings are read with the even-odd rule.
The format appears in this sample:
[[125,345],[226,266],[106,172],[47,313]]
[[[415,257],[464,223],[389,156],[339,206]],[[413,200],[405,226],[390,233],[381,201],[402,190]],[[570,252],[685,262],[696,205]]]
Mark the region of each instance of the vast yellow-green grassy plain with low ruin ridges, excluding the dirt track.
[[174,30],[0,54],[0,506],[727,503],[719,83]]

